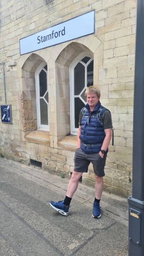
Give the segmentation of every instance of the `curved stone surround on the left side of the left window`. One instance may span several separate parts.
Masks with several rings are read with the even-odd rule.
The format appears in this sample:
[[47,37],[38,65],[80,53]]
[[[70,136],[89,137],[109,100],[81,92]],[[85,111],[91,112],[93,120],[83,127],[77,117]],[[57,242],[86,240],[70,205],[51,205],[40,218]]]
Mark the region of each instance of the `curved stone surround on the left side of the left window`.
[[20,68],[19,110],[23,138],[31,131],[37,130],[35,71],[42,62],[44,59],[41,56],[32,53]]

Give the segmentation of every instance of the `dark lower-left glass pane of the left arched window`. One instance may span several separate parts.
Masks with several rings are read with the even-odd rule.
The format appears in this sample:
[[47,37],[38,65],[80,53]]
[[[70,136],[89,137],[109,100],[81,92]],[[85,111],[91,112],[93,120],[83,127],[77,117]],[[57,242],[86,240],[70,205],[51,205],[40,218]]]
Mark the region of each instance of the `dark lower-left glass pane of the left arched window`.
[[48,105],[44,99],[40,99],[40,120],[41,124],[49,125],[48,122]]

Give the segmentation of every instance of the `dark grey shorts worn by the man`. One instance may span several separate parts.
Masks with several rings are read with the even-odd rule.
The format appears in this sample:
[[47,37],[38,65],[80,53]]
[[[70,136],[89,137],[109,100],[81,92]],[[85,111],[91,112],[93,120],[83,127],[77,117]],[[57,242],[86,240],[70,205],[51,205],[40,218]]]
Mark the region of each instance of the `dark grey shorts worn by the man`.
[[74,156],[74,171],[77,173],[87,173],[89,164],[92,163],[94,173],[98,177],[103,177],[107,154],[102,158],[99,153],[85,154],[81,148],[77,148]]

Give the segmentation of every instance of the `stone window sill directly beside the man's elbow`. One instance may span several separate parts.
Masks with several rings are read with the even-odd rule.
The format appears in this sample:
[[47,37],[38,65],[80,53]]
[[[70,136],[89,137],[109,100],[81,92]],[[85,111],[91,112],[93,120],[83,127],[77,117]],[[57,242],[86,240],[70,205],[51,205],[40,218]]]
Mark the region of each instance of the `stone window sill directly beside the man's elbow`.
[[58,142],[59,149],[65,149],[68,151],[75,151],[77,148],[77,136],[76,135],[69,135],[65,136]]

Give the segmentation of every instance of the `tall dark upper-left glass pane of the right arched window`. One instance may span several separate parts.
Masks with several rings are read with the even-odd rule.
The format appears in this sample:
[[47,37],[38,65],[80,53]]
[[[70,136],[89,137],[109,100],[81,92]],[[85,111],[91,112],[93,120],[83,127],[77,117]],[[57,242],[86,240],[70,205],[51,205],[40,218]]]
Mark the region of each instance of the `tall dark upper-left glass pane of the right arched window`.
[[79,95],[85,87],[85,67],[80,62],[74,68],[74,95]]

